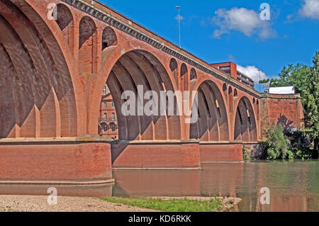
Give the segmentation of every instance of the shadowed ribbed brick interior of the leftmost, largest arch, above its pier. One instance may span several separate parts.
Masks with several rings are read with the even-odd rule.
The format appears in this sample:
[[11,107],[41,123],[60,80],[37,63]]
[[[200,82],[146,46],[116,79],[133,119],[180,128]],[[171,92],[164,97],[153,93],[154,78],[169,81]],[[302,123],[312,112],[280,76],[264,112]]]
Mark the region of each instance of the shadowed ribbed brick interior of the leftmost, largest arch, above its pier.
[[0,137],[76,136],[74,86],[65,55],[40,15],[26,2],[21,5],[0,3]]

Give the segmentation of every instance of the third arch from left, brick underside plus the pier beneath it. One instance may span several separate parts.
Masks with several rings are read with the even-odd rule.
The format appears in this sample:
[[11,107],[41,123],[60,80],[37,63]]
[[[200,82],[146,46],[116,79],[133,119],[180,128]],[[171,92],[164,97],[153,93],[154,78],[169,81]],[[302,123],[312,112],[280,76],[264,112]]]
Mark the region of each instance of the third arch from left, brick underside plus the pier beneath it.
[[190,137],[200,140],[201,162],[242,161],[242,145],[229,142],[229,115],[220,89],[209,80],[197,91],[198,121],[191,124]]

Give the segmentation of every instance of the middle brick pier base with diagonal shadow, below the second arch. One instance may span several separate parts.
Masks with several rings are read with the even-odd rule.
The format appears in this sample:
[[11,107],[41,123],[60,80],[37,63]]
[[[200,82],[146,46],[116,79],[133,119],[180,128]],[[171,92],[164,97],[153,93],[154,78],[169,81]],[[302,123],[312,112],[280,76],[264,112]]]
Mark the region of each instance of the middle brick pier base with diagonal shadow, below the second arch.
[[194,141],[112,143],[113,169],[199,169],[199,144]]

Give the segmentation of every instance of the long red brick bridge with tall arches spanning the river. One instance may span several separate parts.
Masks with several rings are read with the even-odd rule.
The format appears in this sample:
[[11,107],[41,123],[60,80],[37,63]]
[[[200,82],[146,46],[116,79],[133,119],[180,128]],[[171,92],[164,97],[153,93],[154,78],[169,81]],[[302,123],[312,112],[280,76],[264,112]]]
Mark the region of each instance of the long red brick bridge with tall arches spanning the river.
[[[242,145],[269,123],[301,126],[300,96],[259,94],[98,1],[0,0],[0,30],[2,183],[103,183],[111,169],[242,161]],[[117,141],[98,134],[105,84]],[[198,91],[198,122],[123,116],[121,94],[138,86]]]

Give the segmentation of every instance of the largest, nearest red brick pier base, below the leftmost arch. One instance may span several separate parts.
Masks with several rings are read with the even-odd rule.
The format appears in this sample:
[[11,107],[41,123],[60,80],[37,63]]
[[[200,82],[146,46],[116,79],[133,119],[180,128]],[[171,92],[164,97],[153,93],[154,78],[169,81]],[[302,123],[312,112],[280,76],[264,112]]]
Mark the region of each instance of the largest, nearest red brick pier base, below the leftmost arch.
[[111,145],[74,139],[0,142],[0,183],[111,183]]

